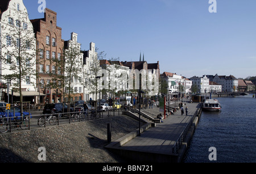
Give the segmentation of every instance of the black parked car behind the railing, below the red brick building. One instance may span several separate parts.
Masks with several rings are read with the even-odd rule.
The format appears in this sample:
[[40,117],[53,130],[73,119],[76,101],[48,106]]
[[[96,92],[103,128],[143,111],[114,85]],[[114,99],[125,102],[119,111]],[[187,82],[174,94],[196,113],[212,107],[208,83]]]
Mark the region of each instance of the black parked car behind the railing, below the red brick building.
[[[64,106],[64,113],[68,113],[68,105],[66,103],[52,103],[46,104],[43,109],[43,114],[51,114],[52,110],[55,113],[63,113],[63,106]],[[70,108],[70,111],[73,111],[73,108]]]

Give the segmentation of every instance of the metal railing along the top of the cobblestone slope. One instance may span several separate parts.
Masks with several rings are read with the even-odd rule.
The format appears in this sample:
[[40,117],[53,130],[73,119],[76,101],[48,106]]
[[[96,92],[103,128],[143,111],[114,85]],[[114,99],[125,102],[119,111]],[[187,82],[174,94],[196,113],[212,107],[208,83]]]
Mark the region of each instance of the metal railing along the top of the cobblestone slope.
[[40,115],[26,115],[21,119],[15,115],[0,115],[0,134],[33,130],[52,126],[67,125],[76,122],[85,122],[93,119],[102,119],[122,115],[125,109],[87,110],[70,113],[52,113]]

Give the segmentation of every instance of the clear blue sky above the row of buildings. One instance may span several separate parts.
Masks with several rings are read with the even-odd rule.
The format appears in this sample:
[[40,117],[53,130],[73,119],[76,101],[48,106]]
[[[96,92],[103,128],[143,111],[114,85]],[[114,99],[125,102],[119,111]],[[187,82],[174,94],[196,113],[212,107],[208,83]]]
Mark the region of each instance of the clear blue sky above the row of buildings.
[[[160,71],[185,77],[204,74],[256,76],[256,1],[46,0],[56,11],[62,38],[79,34],[82,49],[96,43],[107,59],[160,63]],[[23,0],[30,19],[43,18],[38,0]]]

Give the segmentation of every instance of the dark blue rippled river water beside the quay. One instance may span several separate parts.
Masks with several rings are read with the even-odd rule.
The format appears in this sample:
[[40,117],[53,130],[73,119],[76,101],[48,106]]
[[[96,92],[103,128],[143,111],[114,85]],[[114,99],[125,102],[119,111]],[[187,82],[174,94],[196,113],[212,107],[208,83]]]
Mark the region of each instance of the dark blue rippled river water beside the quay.
[[[236,96],[217,98],[222,110],[204,112],[187,152],[185,163],[256,162],[256,98]],[[216,148],[216,154],[209,151]],[[210,161],[210,156],[217,159]]]

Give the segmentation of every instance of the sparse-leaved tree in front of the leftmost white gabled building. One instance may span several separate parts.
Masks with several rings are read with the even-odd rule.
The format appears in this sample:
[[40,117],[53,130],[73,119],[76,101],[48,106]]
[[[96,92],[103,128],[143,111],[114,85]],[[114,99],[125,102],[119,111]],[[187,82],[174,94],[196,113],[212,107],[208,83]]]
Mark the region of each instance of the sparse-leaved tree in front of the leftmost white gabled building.
[[[14,21],[13,16],[16,20]],[[20,93],[23,105],[22,84],[35,86],[36,82],[36,40],[32,24],[20,12],[7,15],[2,30],[2,78],[11,80],[13,89]],[[23,107],[21,107],[23,114]]]

